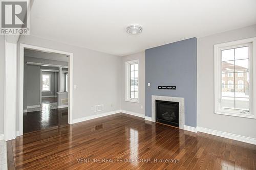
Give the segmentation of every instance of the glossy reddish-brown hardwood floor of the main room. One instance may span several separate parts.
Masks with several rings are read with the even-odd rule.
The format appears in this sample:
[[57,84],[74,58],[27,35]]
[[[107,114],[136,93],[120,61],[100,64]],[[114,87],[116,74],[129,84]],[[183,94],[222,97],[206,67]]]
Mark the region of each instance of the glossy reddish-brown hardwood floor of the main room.
[[11,143],[16,169],[256,168],[256,145],[122,113],[28,133]]

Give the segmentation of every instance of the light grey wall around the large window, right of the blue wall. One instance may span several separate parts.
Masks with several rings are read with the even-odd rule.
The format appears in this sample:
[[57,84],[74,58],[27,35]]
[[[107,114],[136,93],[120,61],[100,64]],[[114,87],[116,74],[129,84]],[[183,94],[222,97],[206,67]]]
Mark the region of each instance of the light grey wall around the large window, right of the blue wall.
[[214,44],[250,37],[256,37],[256,25],[198,38],[199,127],[256,138],[256,119],[214,113]]

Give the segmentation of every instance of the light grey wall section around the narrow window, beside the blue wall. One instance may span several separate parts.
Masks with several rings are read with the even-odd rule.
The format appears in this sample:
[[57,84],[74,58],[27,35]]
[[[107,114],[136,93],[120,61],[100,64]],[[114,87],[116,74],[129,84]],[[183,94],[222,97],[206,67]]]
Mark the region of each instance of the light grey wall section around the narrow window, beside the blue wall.
[[[125,62],[139,59],[139,102],[125,101]],[[122,57],[121,108],[135,113],[145,114],[145,52]],[[143,107],[141,109],[141,106]]]

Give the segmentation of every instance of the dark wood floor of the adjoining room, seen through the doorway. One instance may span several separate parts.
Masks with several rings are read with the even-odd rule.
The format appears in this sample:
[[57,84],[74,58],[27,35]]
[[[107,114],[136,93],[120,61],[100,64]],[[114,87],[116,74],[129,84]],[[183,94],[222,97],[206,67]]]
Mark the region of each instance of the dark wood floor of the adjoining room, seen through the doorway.
[[23,113],[23,133],[68,125],[68,108]]

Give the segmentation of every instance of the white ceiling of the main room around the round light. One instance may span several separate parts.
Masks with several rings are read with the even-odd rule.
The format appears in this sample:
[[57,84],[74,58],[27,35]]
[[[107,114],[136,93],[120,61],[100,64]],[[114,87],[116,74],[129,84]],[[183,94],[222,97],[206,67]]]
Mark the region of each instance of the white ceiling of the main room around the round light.
[[[256,23],[255,0],[44,0],[31,9],[31,35],[123,56]],[[125,28],[143,27],[140,35]]]

